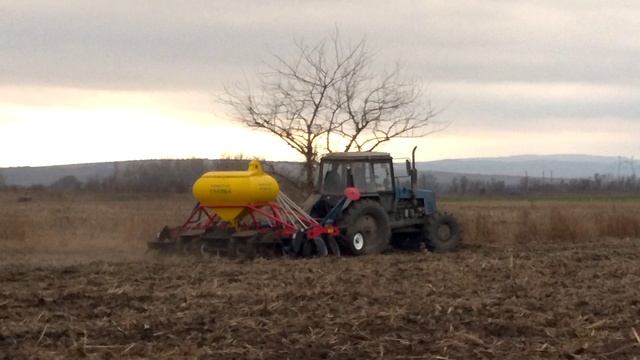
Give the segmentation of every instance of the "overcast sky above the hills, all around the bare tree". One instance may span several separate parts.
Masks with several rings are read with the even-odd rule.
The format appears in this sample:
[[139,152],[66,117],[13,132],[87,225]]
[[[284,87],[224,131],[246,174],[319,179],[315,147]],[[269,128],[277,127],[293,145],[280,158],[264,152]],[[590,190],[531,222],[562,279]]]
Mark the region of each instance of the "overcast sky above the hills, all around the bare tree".
[[397,156],[640,155],[637,1],[0,1],[0,166],[298,159],[214,98],[336,28],[445,109]]

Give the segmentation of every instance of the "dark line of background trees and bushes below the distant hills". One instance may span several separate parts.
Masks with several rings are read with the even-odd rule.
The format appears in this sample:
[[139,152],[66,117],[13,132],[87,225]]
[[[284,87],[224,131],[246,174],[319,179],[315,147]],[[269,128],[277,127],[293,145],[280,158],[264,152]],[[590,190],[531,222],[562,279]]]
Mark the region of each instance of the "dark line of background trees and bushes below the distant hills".
[[[31,189],[54,191],[188,193],[193,182],[206,171],[246,169],[248,159],[229,155],[225,159],[155,160],[114,163],[113,173],[103,178],[80,181],[72,175],[64,176],[49,186],[34,185]],[[265,171],[272,174],[290,196],[306,194],[306,175],[302,164],[263,161]],[[634,193],[640,192],[640,178],[635,175],[615,177],[595,174],[582,179],[520,178],[519,182],[473,179],[465,175],[439,181],[429,172],[421,172],[418,187],[432,189],[439,194],[518,195],[536,193]],[[0,173],[0,189],[17,189],[6,185]]]

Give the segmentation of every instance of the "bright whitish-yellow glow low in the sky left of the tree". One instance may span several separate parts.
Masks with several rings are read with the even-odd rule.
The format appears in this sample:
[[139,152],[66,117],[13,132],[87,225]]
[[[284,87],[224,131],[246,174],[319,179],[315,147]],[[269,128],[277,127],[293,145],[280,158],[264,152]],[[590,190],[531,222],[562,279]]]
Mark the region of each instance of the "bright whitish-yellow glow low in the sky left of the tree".
[[31,91],[55,104],[33,98],[23,99],[26,104],[0,102],[0,167],[216,158],[225,152],[260,157],[278,154],[283,160],[296,160],[278,139],[238,128],[206,109],[193,110],[208,106],[194,94]]

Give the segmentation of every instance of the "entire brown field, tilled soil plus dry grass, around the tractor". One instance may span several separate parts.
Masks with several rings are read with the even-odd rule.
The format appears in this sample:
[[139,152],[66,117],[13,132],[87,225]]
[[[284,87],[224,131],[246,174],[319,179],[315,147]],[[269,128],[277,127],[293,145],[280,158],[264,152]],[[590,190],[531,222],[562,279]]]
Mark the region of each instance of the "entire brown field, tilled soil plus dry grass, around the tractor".
[[145,257],[192,205],[0,193],[0,358],[640,356],[640,203],[445,202],[452,254]]

